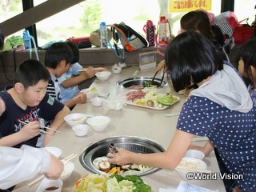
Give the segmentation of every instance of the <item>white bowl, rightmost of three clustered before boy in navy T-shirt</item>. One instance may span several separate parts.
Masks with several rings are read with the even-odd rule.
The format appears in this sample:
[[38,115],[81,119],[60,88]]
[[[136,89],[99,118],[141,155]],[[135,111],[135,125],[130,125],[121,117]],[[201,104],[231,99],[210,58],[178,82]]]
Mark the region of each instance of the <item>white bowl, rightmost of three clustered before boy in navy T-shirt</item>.
[[87,123],[95,131],[105,130],[110,124],[111,119],[106,116],[95,116],[93,118],[88,118]]

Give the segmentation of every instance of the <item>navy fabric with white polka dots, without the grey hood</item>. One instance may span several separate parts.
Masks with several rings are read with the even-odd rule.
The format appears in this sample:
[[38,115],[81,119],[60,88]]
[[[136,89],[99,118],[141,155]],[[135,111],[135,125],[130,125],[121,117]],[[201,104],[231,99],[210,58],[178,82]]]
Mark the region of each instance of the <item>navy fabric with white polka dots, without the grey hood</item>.
[[242,174],[238,186],[256,191],[256,106],[248,113],[229,110],[208,98],[191,96],[182,107],[178,130],[207,136],[231,174]]

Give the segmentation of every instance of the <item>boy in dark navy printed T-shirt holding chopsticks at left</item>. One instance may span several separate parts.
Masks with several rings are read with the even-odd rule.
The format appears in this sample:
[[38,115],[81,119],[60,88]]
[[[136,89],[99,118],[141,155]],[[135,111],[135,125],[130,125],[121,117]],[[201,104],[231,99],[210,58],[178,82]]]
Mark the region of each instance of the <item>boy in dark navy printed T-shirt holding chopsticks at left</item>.
[[58,130],[62,125],[70,110],[46,94],[49,80],[48,70],[37,60],[29,59],[18,66],[14,86],[0,92],[5,106],[0,117],[0,146],[46,146],[55,132],[45,130],[42,134],[39,128]]

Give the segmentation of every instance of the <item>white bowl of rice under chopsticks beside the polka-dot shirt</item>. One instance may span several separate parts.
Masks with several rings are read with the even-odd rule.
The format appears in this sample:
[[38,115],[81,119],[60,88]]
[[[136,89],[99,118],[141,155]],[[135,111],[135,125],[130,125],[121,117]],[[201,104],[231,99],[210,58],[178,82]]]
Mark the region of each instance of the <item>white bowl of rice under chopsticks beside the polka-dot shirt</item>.
[[198,158],[182,158],[182,161],[178,164],[178,166],[184,166],[188,168],[188,170],[183,170],[183,169],[178,169],[176,168],[175,170],[178,171],[178,174],[183,178],[187,179],[186,175],[190,172],[189,168],[196,170],[207,170],[207,165],[205,162],[203,162],[201,159]]

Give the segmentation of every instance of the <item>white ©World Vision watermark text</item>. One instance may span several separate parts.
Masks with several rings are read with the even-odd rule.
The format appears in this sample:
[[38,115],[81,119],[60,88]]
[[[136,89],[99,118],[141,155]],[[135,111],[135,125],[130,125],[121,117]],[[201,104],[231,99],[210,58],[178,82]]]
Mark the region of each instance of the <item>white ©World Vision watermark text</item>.
[[220,179],[226,179],[226,180],[242,180],[243,175],[242,174],[222,174],[222,173],[210,173],[210,174],[204,174],[204,173],[187,173],[186,178],[188,180],[217,180]]

